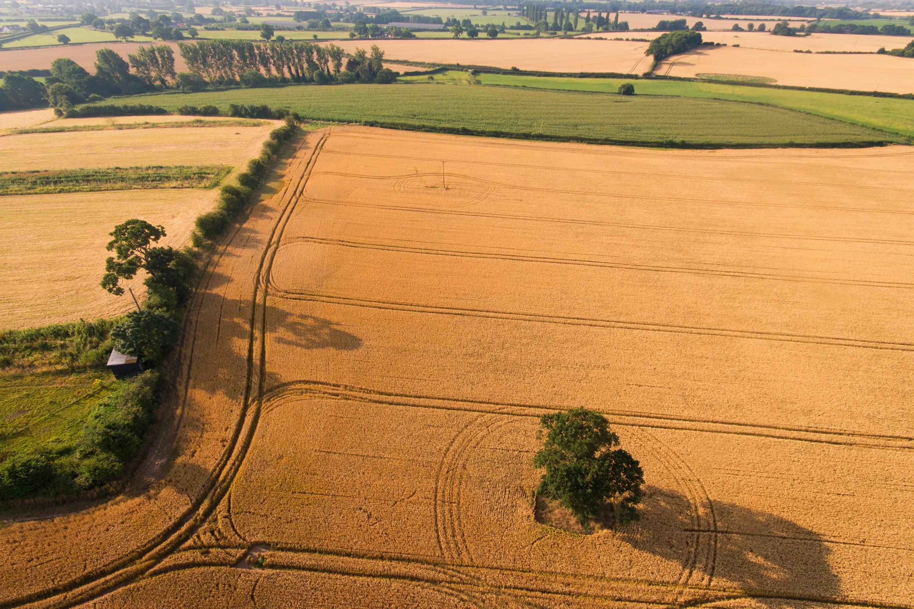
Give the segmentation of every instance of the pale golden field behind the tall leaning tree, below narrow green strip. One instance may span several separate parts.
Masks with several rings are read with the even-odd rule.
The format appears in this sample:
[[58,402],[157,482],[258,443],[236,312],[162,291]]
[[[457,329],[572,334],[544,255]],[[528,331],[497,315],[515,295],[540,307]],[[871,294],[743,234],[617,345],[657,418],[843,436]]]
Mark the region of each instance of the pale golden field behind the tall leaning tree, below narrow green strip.
[[[215,191],[164,189],[0,196],[0,328],[95,320],[133,309],[99,287],[116,224],[139,217],[166,226],[160,243],[183,247]],[[143,282],[134,279],[137,298]]]

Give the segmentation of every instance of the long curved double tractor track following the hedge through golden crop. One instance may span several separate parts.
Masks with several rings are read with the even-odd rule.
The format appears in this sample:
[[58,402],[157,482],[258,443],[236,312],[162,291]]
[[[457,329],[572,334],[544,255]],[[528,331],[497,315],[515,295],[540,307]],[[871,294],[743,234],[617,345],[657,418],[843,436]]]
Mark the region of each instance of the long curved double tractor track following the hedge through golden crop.
[[[288,220],[295,203],[303,192],[304,184],[310,175],[317,153],[320,152],[325,138],[326,133],[323,131],[314,132],[299,143],[296,154],[292,158],[286,173],[288,176],[292,176],[293,179],[286,182],[282,190],[271,197],[270,200],[260,204],[277,210],[278,217],[271,227],[267,246],[260,255],[260,264],[257,268],[253,293],[250,297],[252,314],[249,320],[247,382],[245,383],[244,399],[237,425],[228,441],[228,446],[226,446],[217,466],[210,473],[206,485],[193,502],[191,508],[187,509],[178,520],[175,520],[171,527],[154,537],[153,541],[122,556],[119,560],[111,562],[100,569],[87,572],[69,582],[59,583],[41,592],[10,599],[0,604],[0,608],[34,606],[48,609],[65,609],[98,598],[102,594],[136,581],[153,571],[158,564],[190,539],[201,523],[209,518],[218,507],[219,502],[225,497],[247,454],[260,416],[263,371],[266,362],[263,359],[262,334],[259,334],[259,332],[263,330],[265,323],[266,278],[269,277],[272,258],[276,253],[276,247],[279,245],[282,236],[282,226]],[[302,152],[306,153],[302,154]],[[180,347],[182,368],[180,380],[183,381],[183,386],[180,391],[180,404],[178,404],[177,408],[177,425],[180,425],[183,420],[191,377],[194,371],[197,325],[201,320],[201,316],[211,312],[204,308],[204,297],[212,289],[216,269],[227,257],[230,247],[236,245],[239,236],[242,236],[241,226],[236,227],[226,240],[226,243],[220,247],[218,255],[214,256],[210,261],[206,279],[201,285],[202,290],[199,290],[202,294],[198,293],[191,307],[192,314],[188,316],[185,322],[185,340]],[[250,236],[248,239],[250,239]],[[247,245],[248,239],[245,239],[244,243],[240,244],[241,247]],[[189,343],[187,343],[187,337],[190,339]],[[155,456],[151,456],[147,461],[154,461],[154,458]],[[148,472],[150,469],[154,470],[155,467],[151,467],[147,462],[141,468],[140,473]]]

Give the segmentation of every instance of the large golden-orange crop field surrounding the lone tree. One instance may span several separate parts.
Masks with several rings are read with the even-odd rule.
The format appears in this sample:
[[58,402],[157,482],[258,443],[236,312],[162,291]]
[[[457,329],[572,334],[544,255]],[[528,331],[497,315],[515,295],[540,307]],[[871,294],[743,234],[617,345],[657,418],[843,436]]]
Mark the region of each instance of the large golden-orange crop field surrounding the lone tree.
[[[133,486],[0,528],[0,607],[914,606],[912,167],[315,131]],[[535,520],[576,405],[641,522]]]

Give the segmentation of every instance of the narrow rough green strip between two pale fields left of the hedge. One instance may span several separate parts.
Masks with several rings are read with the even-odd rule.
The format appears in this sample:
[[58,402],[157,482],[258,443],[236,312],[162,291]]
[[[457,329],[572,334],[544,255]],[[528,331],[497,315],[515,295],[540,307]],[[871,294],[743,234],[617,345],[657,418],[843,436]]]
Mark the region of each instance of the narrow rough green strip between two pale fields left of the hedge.
[[81,193],[136,188],[212,188],[231,167],[175,165],[0,173],[0,195]]

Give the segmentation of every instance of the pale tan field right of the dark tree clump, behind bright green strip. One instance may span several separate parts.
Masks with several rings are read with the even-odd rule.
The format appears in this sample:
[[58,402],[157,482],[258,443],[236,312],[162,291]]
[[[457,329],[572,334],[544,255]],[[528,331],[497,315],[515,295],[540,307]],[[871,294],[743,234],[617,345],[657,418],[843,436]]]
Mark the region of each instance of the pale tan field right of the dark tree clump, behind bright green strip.
[[[800,39],[795,44],[803,47]],[[742,47],[699,48],[665,59],[655,73],[689,78],[699,74],[729,74],[773,79],[777,84],[797,87],[914,92],[914,61],[885,55],[787,53]]]

